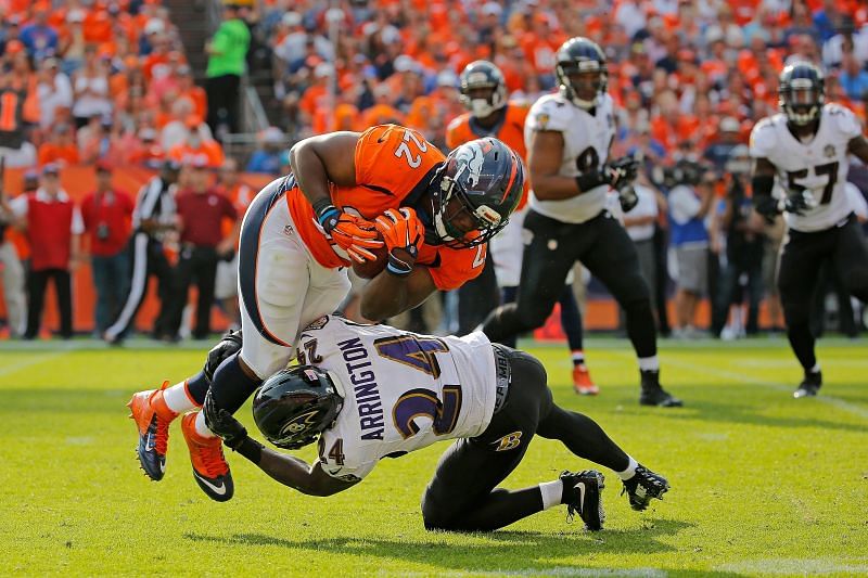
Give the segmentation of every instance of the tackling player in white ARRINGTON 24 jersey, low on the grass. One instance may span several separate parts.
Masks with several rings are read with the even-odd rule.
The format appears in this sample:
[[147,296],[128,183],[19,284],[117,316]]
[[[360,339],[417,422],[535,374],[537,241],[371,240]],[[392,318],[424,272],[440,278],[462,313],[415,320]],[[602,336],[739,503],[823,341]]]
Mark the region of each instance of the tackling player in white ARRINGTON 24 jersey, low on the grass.
[[634,510],[644,510],[669,488],[591,419],[559,408],[538,360],[492,344],[482,333],[441,338],[324,316],[298,343],[302,364],[268,377],[253,413],[278,447],[297,449],[319,438],[316,463],[254,441],[212,394],[204,414],[228,447],[303,493],[331,496],[361,481],[382,458],[455,439],[422,498],[425,528],[495,530],[566,504],[588,529],[601,529],[599,472],[563,472],[521,490],[497,487],[535,435],[614,470]]

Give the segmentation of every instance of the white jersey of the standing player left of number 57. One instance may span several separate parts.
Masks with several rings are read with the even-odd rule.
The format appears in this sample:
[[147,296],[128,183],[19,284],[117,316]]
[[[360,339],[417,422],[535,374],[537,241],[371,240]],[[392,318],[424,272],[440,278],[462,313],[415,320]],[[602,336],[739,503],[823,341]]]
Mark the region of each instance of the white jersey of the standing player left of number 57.
[[[615,138],[615,117],[612,98],[604,94],[590,114],[561,94],[546,94],[534,103],[524,124],[524,142],[531,149],[531,136],[536,130],[557,130],[563,133],[563,157],[559,175],[578,177],[600,169],[609,159],[609,147]],[[561,201],[540,201],[531,191],[531,208],[562,222],[585,222],[605,208],[608,184],[601,184],[579,195]]]

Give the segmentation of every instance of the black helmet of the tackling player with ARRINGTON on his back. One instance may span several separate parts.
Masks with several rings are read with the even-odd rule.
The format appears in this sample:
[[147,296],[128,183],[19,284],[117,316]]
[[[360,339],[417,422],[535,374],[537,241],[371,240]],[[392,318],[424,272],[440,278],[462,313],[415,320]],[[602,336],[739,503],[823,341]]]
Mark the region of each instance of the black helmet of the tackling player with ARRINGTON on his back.
[[315,441],[341,413],[344,391],[337,376],[314,365],[281,370],[253,398],[253,420],[279,448],[298,449]]

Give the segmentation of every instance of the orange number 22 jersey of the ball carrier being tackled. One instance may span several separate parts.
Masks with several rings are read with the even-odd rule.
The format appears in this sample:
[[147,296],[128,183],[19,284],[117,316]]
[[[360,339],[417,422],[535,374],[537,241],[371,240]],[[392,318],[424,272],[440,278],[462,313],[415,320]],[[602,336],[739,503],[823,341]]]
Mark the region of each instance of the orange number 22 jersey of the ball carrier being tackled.
[[[362,132],[355,158],[357,184],[332,184],[332,203],[371,221],[386,209],[401,206],[411,193],[426,189],[431,172],[446,159],[422,134],[398,125],[380,125]],[[298,234],[317,262],[323,267],[348,267],[350,262],[332,248],[297,185],[286,192],[286,202]],[[471,248],[423,244],[416,262],[429,266],[437,288],[447,291],[482,272],[485,252],[485,244]]]

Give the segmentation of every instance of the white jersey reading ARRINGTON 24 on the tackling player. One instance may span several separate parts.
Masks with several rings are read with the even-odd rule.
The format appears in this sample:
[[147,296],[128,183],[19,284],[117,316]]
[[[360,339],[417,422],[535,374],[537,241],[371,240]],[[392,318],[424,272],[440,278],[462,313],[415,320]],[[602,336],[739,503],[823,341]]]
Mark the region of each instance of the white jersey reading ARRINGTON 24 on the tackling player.
[[298,344],[299,361],[333,372],[344,390],[319,442],[333,477],[361,479],[381,458],[475,437],[492,421],[497,376],[483,333],[434,337],[326,316]]

